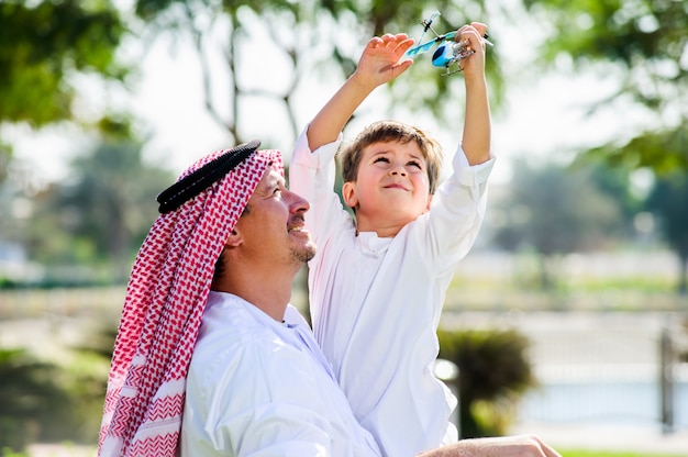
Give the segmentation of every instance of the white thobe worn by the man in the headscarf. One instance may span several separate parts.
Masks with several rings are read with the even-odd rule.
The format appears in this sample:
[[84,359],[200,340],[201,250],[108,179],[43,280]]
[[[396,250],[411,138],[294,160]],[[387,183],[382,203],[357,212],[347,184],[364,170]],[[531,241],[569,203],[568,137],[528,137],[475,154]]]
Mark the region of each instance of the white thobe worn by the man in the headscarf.
[[379,456],[308,323],[211,292],[186,387],[181,456]]

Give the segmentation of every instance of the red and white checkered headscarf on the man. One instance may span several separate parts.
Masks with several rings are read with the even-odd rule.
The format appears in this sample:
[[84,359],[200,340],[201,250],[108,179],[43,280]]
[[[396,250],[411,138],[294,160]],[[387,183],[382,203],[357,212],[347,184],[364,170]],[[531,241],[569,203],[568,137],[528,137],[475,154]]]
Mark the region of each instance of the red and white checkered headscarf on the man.
[[[181,177],[225,154],[211,154]],[[134,263],[114,344],[99,456],[175,456],[186,376],[222,248],[279,152],[253,153],[158,216]]]

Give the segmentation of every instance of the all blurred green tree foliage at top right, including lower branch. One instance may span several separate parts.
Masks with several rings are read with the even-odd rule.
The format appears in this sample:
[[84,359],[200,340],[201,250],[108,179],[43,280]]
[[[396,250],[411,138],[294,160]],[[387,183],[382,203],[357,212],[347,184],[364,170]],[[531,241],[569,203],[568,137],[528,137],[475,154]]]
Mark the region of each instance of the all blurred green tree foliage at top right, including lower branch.
[[630,132],[630,140],[590,153],[612,165],[688,169],[688,3],[523,0],[523,4],[542,24],[542,63],[618,77],[617,92],[592,109],[622,98],[646,109],[647,130]]

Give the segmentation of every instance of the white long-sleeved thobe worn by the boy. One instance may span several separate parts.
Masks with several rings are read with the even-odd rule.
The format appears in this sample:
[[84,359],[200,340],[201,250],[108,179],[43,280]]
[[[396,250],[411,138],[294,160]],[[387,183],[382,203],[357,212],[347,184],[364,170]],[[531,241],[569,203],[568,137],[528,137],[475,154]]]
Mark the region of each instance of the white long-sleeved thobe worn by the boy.
[[457,439],[456,399],[433,375],[446,289],[485,213],[493,159],[469,166],[459,148],[431,210],[395,237],[359,233],[334,192],[340,141],[311,152],[297,141],[290,190],[318,254],[309,263],[313,332],[354,414],[382,453],[412,456]]

